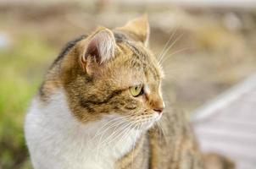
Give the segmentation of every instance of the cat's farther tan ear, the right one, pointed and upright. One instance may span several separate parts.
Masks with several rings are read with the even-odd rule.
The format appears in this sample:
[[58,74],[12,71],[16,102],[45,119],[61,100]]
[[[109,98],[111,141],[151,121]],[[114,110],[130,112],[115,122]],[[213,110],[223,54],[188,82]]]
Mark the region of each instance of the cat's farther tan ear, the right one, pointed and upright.
[[133,36],[136,41],[142,41],[145,46],[148,45],[150,27],[147,14],[132,19],[125,26],[117,28],[117,30],[123,30]]

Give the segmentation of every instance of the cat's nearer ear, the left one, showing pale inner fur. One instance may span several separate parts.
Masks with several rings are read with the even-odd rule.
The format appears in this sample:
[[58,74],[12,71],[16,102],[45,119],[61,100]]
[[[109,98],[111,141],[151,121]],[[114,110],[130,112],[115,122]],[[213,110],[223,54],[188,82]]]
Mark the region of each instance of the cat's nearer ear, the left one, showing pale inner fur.
[[81,57],[82,67],[87,73],[92,72],[92,67],[106,63],[114,57],[115,48],[116,44],[112,31],[106,28],[97,30],[89,39],[83,52]]

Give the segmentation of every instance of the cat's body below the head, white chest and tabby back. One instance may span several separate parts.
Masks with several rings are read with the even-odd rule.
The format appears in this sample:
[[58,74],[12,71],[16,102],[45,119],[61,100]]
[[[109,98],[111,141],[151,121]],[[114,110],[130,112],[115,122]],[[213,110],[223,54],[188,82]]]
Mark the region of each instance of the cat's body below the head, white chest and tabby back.
[[126,169],[133,165],[133,168],[140,169],[149,166],[155,169],[198,169],[203,165],[182,114],[165,112],[159,122],[161,128],[147,132],[131,131],[123,142],[114,140],[107,146],[101,146],[98,139],[108,138],[114,128],[103,131],[106,134],[102,138],[95,139],[95,134],[101,136],[98,129],[103,128],[111,117],[83,125],[71,115],[63,90],[59,90],[51,100],[44,106],[36,98],[26,119],[28,144],[30,150],[36,152],[31,155],[35,168]]

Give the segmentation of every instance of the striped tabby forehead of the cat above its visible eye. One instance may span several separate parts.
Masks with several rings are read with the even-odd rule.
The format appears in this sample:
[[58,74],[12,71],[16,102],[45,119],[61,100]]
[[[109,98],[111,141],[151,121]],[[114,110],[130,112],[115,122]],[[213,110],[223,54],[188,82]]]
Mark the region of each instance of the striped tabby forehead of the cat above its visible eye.
[[[122,37],[119,37],[122,38]],[[111,75],[122,85],[159,85],[161,70],[153,54],[134,41],[119,41],[120,53],[114,59]],[[125,86],[126,86],[125,85]]]

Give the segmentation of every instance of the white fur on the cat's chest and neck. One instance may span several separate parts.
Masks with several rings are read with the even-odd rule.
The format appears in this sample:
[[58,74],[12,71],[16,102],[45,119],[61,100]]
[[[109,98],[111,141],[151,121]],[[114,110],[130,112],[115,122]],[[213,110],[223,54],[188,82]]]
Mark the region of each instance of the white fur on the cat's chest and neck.
[[135,129],[126,129],[128,126],[121,125],[120,119],[111,116],[95,123],[79,123],[72,116],[62,91],[53,95],[47,106],[35,99],[25,121],[25,138],[33,166],[36,169],[114,168],[115,161],[132,150],[140,135]]

